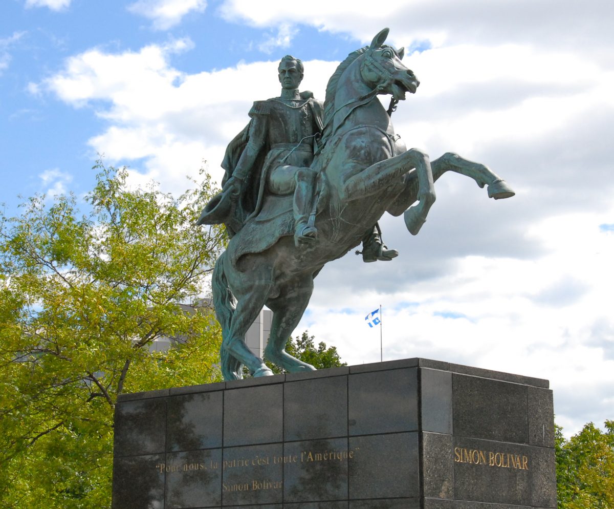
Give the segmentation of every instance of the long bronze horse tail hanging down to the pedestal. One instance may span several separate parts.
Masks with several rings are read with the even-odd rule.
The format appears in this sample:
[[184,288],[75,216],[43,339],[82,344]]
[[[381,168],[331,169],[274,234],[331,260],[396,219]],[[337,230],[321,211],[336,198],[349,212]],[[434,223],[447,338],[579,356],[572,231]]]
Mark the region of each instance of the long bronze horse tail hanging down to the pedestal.
[[228,280],[224,273],[224,256],[217,259],[216,266],[213,269],[212,290],[213,290],[213,306],[216,310],[217,321],[222,326],[222,346],[220,347],[220,368],[224,380],[236,380],[242,378],[241,362],[238,361],[227,349],[228,334],[230,333],[230,324],[235,312],[235,298],[228,287]]

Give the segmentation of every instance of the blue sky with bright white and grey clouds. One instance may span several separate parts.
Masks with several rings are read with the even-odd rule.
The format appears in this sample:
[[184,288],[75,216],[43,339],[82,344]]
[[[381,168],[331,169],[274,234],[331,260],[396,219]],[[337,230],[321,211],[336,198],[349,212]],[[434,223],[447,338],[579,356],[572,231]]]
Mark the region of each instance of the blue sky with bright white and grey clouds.
[[[308,329],[349,364],[422,357],[548,379],[565,435],[614,419],[614,5],[609,0],[2,0],[0,202],[91,189],[99,156],[176,194],[221,180],[252,101],[301,58],[324,98],[384,27],[421,82],[392,116],[408,147],[454,151],[515,189],[448,173],[400,251],[349,253],[315,281]],[[382,306],[380,326],[365,316]]]

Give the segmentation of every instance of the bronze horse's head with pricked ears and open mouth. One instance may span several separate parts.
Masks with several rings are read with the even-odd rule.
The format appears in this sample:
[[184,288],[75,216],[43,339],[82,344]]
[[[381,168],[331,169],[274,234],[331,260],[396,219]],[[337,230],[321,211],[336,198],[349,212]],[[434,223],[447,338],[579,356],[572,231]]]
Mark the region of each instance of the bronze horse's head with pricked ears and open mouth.
[[395,50],[384,44],[389,29],[379,32],[365,52],[360,74],[363,81],[378,94],[391,94],[395,100],[405,99],[405,93],[416,93],[420,82],[416,75],[401,62],[405,50]]

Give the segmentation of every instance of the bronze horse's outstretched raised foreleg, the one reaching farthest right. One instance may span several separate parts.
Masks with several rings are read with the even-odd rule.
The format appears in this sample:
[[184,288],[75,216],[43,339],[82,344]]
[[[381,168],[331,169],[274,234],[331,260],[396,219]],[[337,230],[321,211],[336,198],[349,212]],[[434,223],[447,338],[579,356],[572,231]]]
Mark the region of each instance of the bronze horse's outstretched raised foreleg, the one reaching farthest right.
[[445,172],[456,172],[476,181],[478,186],[488,186],[488,197],[500,200],[510,198],[516,193],[499,175],[483,164],[464,159],[454,152],[446,152],[431,162],[433,179],[437,180]]

